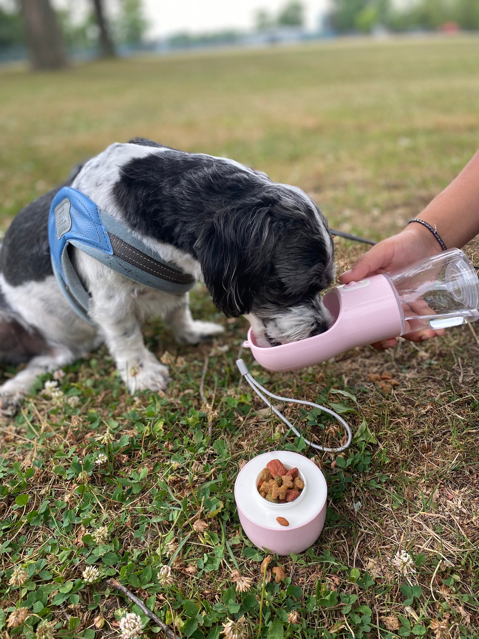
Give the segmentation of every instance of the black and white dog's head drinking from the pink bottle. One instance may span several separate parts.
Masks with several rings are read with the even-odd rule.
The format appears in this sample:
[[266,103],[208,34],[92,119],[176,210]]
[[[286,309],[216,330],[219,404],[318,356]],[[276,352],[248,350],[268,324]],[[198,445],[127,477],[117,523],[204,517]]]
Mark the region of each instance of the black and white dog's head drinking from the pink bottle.
[[206,224],[195,251],[217,308],[245,315],[260,346],[327,330],[320,293],[335,275],[334,245],[323,214],[300,189],[268,180],[243,191]]

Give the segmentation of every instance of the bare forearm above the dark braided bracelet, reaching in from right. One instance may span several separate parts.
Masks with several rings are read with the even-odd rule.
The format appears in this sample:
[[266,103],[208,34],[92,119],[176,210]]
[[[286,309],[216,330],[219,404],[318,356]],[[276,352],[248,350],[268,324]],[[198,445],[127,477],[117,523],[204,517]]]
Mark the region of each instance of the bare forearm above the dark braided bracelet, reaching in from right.
[[436,228],[448,249],[479,234],[479,151],[418,217]]

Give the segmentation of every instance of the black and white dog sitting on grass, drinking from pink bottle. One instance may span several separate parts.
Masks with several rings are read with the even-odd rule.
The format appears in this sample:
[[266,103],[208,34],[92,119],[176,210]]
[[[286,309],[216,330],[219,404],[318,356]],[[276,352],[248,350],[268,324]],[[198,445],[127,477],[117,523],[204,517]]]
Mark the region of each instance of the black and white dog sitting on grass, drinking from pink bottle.
[[[333,241],[326,219],[300,189],[232,160],[145,139],[112,144],[67,184],[165,261],[202,279],[225,315],[244,314],[260,345],[303,339],[328,327],[319,292],[335,273]],[[0,387],[0,410],[7,415],[38,374],[101,343],[130,392],[164,389],[168,370],[142,338],[149,316],[162,316],[187,344],[223,330],[192,319],[188,294],[146,288],[74,249],[95,325],[77,316],[50,264],[47,224],[58,190],[15,217],[0,249],[0,360],[28,362]]]

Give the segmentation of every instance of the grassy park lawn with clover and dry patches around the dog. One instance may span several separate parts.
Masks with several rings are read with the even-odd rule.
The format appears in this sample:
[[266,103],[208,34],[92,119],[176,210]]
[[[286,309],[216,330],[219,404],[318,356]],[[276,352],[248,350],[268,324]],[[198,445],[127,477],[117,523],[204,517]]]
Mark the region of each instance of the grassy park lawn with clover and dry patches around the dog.
[[[4,68],[0,225],[79,160],[143,135],[299,185],[331,226],[390,235],[479,146],[478,54],[479,39],[468,36],[138,58],[51,75]],[[338,242],[340,268],[361,250]],[[476,245],[468,251],[479,259]],[[312,451],[239,380],[245,320],[219,316],[201,287],[192,305],[227,332],[192,348],[148,323],[149,348],[171,369],[164,396],[128,396],[100,349],[65,370],[63,395],[43,390],[51,376],[38,380],[22,412],[1,423],[3,636],[20,605],[29,616],[8,629],[12,636],[44,637],[45,621],[65,639],[116,635],[130,603],[107,585],[114,577],[186,637],[216,639],[227,619],[245,615],[248,636],[271,639],[477,638],[474,330],[419,346],[400,341],[386,353],[360,348],[294,374],[266,373],[243,351],[273,392],[340,403],[354,431],[363,424],[344,456],[314,456],[330,491],[323,534],[301,555],[273,557],[263,586],[266,554],[239,526],[236,473],[257,452]],[[382,373],[399,385],[370,381]],[[314,414],[301,427],[319,439],[334,435]],[[114,441],[99,442],[107,429]],[[402,550],[412,559],[406,575],[392,562]],[[172,585],[158,581],[163,564]],[[93,584],[82,576],[87,566],[98,568]],[[278,584],[275,566],[287,575]],[[9,585],[15,567],[27,573],[20,587]],[[238,592],[235,569],[251,578],[250,590]],[[163,636],[153,622],[145,633]]]

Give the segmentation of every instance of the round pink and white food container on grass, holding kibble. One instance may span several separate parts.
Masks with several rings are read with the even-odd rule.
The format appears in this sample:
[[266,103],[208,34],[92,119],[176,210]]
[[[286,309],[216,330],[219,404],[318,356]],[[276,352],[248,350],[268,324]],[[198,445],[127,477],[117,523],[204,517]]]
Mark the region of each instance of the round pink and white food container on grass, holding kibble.
[[[279,459],[287,470],[298,468],[305,487],[294,502],[271,504],[259,494],[261,471],[271,459]],[[251,459],[234,484],[239,521],[248,539],[277,555],[301,553],[315,543],[326,518],[327,492],[321,470],[307,457],[289,450],[265,452]],[[280,525],[277,517],[284,517],[289,526]]]

